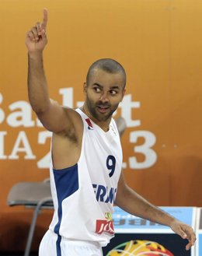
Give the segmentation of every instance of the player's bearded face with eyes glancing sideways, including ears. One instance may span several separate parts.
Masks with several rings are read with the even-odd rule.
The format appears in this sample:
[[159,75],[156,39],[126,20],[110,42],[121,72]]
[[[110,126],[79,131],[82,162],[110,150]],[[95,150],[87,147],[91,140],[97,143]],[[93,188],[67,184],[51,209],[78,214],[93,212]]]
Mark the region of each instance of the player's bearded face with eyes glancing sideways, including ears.
[[98,121],[106,121],[124,97],[124,78],[121,72],[111,74],[95,69],[84,89],[89,114]]

